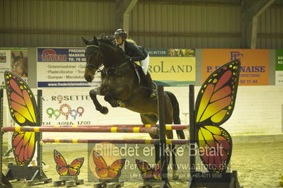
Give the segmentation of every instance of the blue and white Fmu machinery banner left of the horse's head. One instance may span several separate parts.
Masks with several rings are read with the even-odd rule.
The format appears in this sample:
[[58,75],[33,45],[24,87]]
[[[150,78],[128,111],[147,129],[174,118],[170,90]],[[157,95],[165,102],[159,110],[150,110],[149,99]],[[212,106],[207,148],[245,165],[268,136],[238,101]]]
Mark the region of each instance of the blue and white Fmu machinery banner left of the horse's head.
[[85,48],[37,48],[37,87],[96,87],[100,74],[91,83],[83,77]]

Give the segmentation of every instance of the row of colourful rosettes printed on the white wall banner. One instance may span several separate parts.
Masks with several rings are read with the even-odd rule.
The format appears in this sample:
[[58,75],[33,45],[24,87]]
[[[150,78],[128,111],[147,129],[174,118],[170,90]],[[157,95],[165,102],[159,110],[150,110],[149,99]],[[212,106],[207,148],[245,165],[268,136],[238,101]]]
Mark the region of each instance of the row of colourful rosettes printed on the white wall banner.
[[46,110],[46,113],[49,115],[49,118],[52,118],[52,116],[54,115],[56,119],[58,119],[58,117],[60,117],[61,114],[64,115],[66,119],[68,119],[69,114],[71,115],[71,117],[76,119],[78,114],[79,114],[79,117],[81,117],[83,115],[83,112],[84,112],[83,107],[77,107],[76,110],[74,110],[74,109],[71,109],[71,106],[68,104],[62,104],[59,107],[59,110],[54,110],[52,107],[49,107]]

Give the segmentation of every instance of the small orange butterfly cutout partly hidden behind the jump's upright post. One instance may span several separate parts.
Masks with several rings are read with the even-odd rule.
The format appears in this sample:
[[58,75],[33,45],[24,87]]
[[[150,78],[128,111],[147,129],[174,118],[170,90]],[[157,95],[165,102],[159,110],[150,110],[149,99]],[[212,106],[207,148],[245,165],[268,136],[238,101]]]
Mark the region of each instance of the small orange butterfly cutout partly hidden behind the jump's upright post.
[[161,160],[151,168],[151,165],[144,160],[136,159],[137,168],[144,180],[161,180]]

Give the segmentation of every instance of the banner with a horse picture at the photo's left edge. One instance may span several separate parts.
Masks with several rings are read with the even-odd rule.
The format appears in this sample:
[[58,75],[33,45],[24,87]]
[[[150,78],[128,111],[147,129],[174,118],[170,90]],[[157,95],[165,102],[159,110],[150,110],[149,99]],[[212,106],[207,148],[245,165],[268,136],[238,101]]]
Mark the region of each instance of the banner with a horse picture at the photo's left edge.
[[28,81],[28,49],[21,47],[0,48],[0,85],[4,85],[4,72],[12,71]]

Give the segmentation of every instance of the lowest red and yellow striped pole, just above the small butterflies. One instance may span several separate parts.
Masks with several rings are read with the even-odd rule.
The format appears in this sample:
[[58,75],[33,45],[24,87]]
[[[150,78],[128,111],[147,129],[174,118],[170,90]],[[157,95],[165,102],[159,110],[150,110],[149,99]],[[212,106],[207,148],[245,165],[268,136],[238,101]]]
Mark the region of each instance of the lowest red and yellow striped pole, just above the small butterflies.
[[[43,143],[137,143],[137,144],[159,144],[159,139],[42,139]],[[187,140],[167,139],[167,144],[184,145]]]

